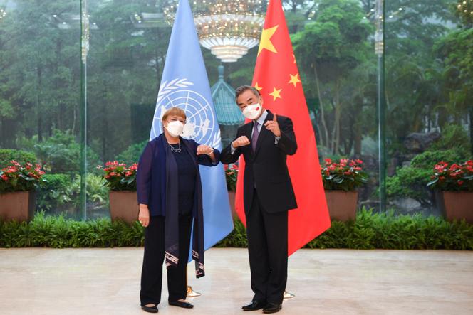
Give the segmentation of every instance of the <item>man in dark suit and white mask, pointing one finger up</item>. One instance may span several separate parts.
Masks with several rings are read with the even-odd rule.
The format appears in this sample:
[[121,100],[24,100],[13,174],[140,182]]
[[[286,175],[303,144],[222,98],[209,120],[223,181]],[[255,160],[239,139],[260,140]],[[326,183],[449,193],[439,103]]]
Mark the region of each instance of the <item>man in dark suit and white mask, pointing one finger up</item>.
[[286,165],[286,157],[296,153],[296,137],[291,119],[265,110],[256,88],[244,85],[235,94],[251,122],[239,127],[220,159],[230,164],[243,154],[246,163],[243,194],[254,297],[242,309],[276,313],[286,289],[288,210],[297,208]]

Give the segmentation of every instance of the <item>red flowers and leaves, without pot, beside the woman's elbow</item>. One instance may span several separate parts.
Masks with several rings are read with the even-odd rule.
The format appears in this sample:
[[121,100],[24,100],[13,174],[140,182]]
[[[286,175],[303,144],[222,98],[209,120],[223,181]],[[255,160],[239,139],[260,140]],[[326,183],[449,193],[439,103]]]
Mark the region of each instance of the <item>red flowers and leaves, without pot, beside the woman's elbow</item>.
[[[101,165],[97,166],[97,169],[102,168]],[[111,191],[136,191],[137,169],[138,164],[136,163],[127,166],[127,164],[118,163],[118,161],[108,161],[103,168],[105,172],[103,178],[107,181]]]

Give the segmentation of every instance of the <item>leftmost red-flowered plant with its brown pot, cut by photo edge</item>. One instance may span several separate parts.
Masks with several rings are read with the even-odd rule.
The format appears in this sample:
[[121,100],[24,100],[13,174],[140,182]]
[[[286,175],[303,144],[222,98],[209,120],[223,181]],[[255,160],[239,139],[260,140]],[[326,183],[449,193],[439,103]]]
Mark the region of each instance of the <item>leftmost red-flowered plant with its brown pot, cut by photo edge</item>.
[[41,165],[10,161],[0,170],[0,218],[29,221],[36,206],[35,189],[46,182]]

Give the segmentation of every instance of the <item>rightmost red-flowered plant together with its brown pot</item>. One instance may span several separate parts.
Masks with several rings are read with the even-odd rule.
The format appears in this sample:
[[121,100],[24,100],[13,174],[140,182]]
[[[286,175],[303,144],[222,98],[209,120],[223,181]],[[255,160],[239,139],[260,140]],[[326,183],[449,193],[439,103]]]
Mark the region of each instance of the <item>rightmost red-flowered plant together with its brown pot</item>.
[[427,187],[435,190],[437,207],[447,220],[473,223],[473,161],[448,164],[440,161],[433,169]]

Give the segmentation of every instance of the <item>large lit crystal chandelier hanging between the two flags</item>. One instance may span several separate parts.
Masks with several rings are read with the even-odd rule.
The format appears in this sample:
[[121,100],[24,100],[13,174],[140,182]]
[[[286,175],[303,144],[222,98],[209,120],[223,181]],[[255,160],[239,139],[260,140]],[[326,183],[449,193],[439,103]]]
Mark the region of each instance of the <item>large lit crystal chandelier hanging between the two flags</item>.
[[[191,5],[200,44],[222,62],[234,63],[258,45],[264,23],[263,1],[201,0]],[[175,3],[164,9],[171,25],[176,9]]]

